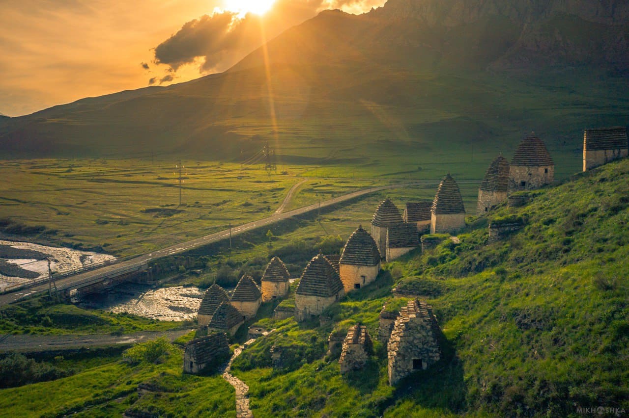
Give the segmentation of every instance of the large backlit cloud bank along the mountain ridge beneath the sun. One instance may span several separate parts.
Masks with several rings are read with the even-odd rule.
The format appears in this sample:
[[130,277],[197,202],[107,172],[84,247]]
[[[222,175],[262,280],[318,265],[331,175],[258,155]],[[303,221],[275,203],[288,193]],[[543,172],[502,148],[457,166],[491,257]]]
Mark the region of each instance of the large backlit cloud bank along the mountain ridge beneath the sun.
[[[382,4],[382,0],[278,0],[264,16],[265,38],[274,38],[282,31],[315,16],[321,9],[366,8]],[[200,72],[223,71],[264,42],[259,16],[247,14],[240,18],[225,11],[201,16],[182,26],[177,33],[155,48],[155,63],[177,70],[200,59]]]

